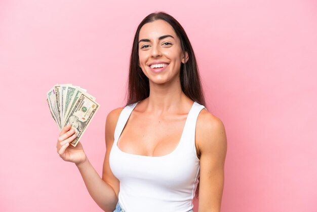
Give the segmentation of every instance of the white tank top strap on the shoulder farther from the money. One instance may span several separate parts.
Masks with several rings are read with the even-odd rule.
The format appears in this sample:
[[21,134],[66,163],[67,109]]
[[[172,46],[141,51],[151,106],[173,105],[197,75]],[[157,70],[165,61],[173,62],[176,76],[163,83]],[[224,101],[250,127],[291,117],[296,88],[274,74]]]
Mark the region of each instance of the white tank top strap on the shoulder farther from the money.
[[[183,136],[189,140],[195,140],[195,130],[196,130],[196,122],[197,122],[197,118],[198,115],[200,114],[200,112],[204,109],[204,105],[199,104],[197,102],[194,102],[192,105],[191,110],[188,113],[188,117],[186,120],[186,124],[184,127],[184,134]],[[188,142],[185,142],[188,144]],[[189,145],[191,145],[191,143],[189,143]]]

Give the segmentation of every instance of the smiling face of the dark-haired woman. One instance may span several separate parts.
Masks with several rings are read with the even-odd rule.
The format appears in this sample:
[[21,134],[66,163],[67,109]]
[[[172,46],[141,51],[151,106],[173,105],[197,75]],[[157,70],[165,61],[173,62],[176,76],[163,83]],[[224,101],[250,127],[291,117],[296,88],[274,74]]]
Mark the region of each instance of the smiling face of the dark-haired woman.
[[139,66],[150,83],[179,81],[184,62],[180,40],[173,27],[163,20],[144,24],[139,33]]

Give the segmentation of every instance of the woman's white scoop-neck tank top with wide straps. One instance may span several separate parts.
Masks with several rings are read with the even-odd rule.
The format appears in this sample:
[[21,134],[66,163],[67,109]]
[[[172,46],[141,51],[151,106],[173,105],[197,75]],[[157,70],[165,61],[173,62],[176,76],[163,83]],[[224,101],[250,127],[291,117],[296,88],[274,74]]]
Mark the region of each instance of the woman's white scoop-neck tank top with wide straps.
[[114,131],[109,163],[120,181],[119,202],[127,212],[185,212],[193,208],[192,200],[199,178],[199,159],[195,149],[196,120],[205,107],[194,102],[176,149],[164,156],[143,156],[121,151],[117,146],[133,109],[127,105]]

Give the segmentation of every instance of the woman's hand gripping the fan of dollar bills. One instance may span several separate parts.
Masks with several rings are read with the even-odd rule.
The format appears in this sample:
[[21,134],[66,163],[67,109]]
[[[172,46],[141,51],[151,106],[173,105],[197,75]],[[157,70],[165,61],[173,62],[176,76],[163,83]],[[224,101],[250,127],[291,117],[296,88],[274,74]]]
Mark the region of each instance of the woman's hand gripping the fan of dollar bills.
[[69,145],[76,138],[75,131],[67,124],[59,134],[57,139],[57,153],[64,161],[73,162],[76,165],[84,163],[87,160],[83,146],[80,142],[73,147]]

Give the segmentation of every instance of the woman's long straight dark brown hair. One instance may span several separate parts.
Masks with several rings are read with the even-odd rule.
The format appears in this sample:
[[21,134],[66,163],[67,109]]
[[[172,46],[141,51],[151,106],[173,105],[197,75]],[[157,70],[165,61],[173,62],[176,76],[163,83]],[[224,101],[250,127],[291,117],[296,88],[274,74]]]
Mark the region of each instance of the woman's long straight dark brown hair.
[[147,98],[150,94],[148,78],[142,72],[139,66],[139,32],[141,27],[155,20],[164,20],[168,22],[175,30],[177,37],[180,40],[181,48],[185,57],[185,52],[188,53],[188,60],[181,64],[180,82],[182,91],[191,100],[205,105],[204,93],[198,72],[197,61],[194,51],[191,47],[187,34],[180,23],[171,15],[164,12],[151,13],[146,16],[139,24],[134,36],[132,52],[130,57],[129,67],[129,82],[127,90],[127,105]]

